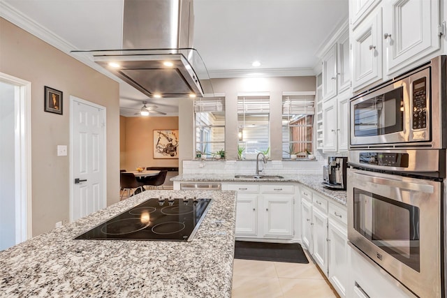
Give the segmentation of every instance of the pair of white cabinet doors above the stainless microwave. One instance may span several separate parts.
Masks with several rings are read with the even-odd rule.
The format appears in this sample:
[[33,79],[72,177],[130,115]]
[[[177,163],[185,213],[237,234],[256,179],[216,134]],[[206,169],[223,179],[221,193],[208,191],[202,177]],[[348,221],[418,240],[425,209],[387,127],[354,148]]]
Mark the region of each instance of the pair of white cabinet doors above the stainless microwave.
[[350,0],[352,87],[361,91],[441,54],[441,0]]

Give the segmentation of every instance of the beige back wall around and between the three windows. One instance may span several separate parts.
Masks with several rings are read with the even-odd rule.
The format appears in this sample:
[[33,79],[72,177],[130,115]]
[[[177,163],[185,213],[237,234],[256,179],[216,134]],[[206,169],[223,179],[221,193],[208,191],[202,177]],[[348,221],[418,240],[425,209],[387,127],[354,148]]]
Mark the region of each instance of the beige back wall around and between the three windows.
[[[225,151],[226,158],[237,158],[237,94],[240,92],[269,92],[270,93],[270,158],[281,160],[281,115],[283,91],[315,91],[316,81],[313,76],[305,77],[249,77],[212,79],[214,93],[225,94]],[[180,141],[182,137],[190,136],[188,147],[180,149],[180,164],[183,160],[193,158],[193,108],[192,102],[182,100],[179,108]],[[180,107],[180,106],[179,106]],[[181,170],[181,169],[180,169]]]

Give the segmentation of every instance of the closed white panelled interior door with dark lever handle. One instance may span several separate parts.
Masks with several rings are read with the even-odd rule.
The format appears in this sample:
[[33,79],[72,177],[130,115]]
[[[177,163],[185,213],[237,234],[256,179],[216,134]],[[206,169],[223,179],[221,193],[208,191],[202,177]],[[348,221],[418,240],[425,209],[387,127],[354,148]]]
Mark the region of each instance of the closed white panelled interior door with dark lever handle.
[[71,96],[71,221],[106,206],[105,107]]

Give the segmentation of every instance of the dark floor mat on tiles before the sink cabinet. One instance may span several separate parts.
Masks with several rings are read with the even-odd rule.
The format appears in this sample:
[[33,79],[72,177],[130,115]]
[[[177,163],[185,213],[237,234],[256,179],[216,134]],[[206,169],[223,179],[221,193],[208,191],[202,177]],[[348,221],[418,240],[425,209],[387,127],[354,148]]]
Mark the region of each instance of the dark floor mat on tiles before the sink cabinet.
[[273,262],[309,263],[298,243],[265,243],[236,241],[235,259]]

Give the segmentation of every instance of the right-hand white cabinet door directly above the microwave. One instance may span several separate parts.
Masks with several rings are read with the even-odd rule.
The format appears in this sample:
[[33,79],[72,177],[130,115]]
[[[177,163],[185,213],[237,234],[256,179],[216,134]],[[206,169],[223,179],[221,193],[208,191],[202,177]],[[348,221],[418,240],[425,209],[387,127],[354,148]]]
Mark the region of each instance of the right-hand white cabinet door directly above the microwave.
[[383,38],[386,75],[439,50],[438,0],[383,1]]

